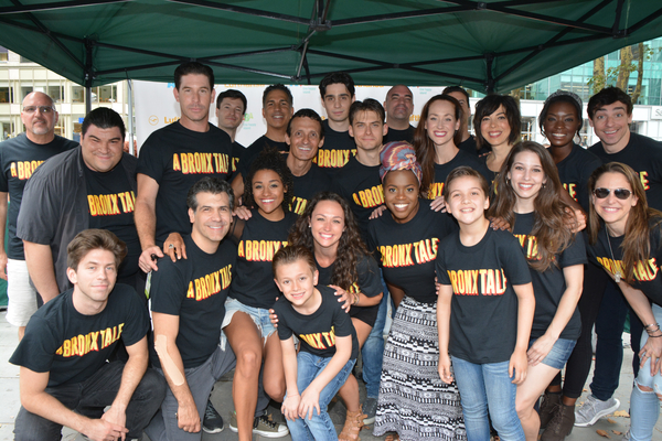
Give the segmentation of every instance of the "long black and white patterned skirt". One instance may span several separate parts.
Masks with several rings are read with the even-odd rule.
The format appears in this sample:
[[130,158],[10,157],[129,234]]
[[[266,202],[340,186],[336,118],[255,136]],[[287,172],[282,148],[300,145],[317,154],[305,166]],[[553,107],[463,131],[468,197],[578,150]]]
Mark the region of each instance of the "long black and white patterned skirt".
[[376,437],[467,440],[458,387],[441,381],[438,365],[437,306],[405,297],[384,346]]

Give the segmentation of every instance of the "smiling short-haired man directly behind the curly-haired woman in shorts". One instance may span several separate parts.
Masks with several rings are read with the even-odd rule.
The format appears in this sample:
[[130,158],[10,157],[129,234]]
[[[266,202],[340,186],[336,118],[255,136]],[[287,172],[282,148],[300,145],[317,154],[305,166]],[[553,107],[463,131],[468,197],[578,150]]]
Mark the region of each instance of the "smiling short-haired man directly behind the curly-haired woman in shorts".
[[312,162],[318,148],[324,143],[322,119],[317,111],[297,111],[287,126],[285,141],[290,147],[287,166],[292,172],[295,182],[290,211],[300,215],[312,196],[331,187],[327,173]]

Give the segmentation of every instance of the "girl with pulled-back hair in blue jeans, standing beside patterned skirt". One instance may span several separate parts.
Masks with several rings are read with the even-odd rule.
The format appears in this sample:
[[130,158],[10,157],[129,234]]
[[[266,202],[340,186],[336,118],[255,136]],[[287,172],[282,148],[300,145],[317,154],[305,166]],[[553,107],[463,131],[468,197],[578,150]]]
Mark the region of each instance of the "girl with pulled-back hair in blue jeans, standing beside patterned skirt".
[[446,209],[460,226],[439,244],[439,375],[462,397],[469,440],[490,439],[488,406],[501,439],[523,440],[516,386],[526,377],[535,309],[531,275],[517,239],[485,218],[488,182],[460,166],[444,186]]

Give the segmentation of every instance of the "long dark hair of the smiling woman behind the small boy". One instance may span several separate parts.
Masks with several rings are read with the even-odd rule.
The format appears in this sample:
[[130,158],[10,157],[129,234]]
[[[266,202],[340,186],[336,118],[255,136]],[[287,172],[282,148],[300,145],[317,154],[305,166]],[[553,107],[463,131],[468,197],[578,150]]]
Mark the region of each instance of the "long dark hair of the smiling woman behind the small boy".
[[314,239],[310,228],[310,222],[312,219],[312,212],[314,207],[322,201],[332,201],[338,203],[344,214],[345,230],[340,237],[338,243],[338,257],[335,258],[335,265],[333,266],[333,275],[331,275],[331,283],[335,284],[344,290],[349,290],[350,287],[359,279],[356,272],[356,266],[360,259],[364,256],[369,256],[370,252],[361,239],[361,233],[356,219],[352,214],[350,205],[340,195],[332,192],[320,192],[316,194],[312,200],[306,206],[306,209],[297,219],[292,232],[289,235],[289,245],[302,245],[308,247],[314,252]]

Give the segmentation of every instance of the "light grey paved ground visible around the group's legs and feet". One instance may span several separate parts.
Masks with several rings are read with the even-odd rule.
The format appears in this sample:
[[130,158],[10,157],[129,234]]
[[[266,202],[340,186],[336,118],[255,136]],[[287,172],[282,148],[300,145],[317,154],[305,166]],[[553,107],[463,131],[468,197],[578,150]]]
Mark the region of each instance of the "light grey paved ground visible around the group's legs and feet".
[[[4,315],[6,312],[0,312],[0,441],[13,440],[13,421],[20,407],[19,368],[8,363],[10,355],[18,344],[17,329],[7,323]],[[619,410],[627,412],[629,409],[630,391],[632,388],[632,356],[629,348],[627,348],[624,352],[626,356],[623,357],[623,367],[621,369],[620,387],[616,392],[616,397],[621,402]],[[364,397],[364,394],[365,389],[362,389],[362,398]],[[585,391],[584,396],[579,399],[579,402],[584,401],[586,394],[587,392]],[[212,395],[212,400],[214,401],[214,405],[221,415],[224,418],[227,417],[227,424],[229,412],[233,410],[232,383],[229,381],[229,378],[224,378],[216,384]],[[340,432],[344,422],[345,409],[342,404],[338,402],[332,406],[330,411],[333,422]],[[573,433],[566,440],[605,441],[605,438],[597,433],[597,430],[604,430],[611,440],[618,441],[622,439],[622,433],[628,430],[629,426],[629,418],[610,416],[610,418],[601,419],[591,428],[575,428]],[[83,435],[68,429],[65,429],[63,434],[63,439],[66,441],[85,440]],[[229,429],[225,429],[223,432],[216,434],[204,433],[202,437],[203,441],[236,441],[237,439],[237,434],[229,431]],[[254,437],[254,439],[256,441],[264,440],[261,437]],[[384,437],[373,437],[371,430],[363,430],[361,432],[361,439],[363,441],[373,441],[383,440]],[[282,440],[289,441],[290,437],[284,438]],[[658,421],[653,440],[662,440],[662,419]],[[143,438],[143,441],[147,441],[147,437]]]

